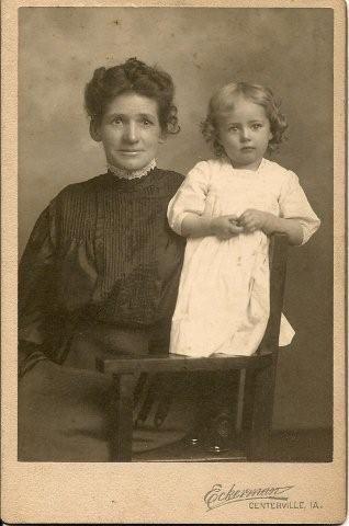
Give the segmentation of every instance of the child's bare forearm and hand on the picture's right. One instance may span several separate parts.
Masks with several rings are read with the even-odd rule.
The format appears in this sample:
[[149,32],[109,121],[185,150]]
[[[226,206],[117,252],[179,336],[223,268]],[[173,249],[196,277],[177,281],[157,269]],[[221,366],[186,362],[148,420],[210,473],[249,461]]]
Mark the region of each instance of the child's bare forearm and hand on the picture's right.
[[247,232],[262,230],[267,236],[284,233],[288,236],[290,244],[302,244],[303,242],[302,224],[296,218],[284,219],[268,211],[249,208],[239,217],[239,224]]

